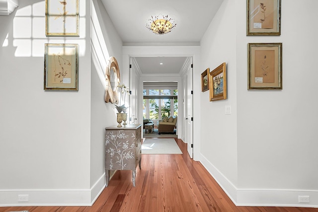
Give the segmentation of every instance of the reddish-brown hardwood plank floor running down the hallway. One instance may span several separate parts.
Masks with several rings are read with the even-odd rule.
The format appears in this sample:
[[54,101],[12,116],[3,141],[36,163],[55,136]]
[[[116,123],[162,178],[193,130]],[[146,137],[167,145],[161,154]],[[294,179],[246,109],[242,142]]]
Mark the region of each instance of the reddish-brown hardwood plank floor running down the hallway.
[[187,146],[183,154],[143,154],[142,169],[117,171],[91,207],[6,207],[0,212],[318,212],[313,208],[236,207]]

